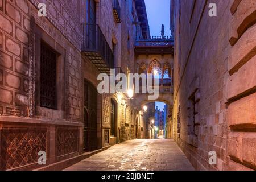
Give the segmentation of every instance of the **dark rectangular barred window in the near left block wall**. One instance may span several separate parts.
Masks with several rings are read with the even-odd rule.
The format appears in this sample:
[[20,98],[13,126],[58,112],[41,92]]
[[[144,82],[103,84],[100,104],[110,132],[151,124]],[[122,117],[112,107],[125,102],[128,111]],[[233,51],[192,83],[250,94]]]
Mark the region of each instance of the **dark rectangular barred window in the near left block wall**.
[[40,59],[40,105],[56,108],[56,59],[57,55],[46,44],[41,43]]

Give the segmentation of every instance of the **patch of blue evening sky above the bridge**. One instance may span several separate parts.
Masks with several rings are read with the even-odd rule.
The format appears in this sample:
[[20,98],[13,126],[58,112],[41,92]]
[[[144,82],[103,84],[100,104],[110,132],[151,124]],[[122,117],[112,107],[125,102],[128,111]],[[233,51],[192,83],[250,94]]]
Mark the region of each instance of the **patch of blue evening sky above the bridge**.
[[147,19],[150,25],[150,35],[160,36],[164,24],[164,35],[171,35],[170,30],[170,0],[144,0],[146,3]]

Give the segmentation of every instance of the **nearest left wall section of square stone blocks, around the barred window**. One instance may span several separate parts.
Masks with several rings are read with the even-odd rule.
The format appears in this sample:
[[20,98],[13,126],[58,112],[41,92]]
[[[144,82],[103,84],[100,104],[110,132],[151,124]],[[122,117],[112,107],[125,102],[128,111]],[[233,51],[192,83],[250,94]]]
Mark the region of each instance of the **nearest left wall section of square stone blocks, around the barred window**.
[[[47,164],[82,152],[83,1],[40,2],[47,17],[38,16],[39,1],[0,1],[0,169],[42,167],[39,151],[46,152]],[[58,53],[56,110],[40,107],[42,41]]]

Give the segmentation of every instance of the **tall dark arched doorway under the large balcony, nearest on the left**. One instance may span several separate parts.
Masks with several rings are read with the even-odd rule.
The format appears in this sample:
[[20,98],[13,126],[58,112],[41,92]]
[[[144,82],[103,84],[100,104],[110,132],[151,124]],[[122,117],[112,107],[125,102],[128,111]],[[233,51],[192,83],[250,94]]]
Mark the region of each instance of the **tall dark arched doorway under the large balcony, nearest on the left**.
[[97,149],[97,89],[84,80],[84,151]]

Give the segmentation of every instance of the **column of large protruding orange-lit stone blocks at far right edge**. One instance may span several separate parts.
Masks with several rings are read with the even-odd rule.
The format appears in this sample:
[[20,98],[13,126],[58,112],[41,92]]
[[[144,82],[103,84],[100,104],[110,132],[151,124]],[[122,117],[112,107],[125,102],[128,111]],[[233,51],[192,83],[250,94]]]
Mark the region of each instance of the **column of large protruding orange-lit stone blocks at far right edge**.
[[[230,169],[256,170],[256,2],[230,2],[226,119]],[[222,117],[222,116],[221,116]]]

